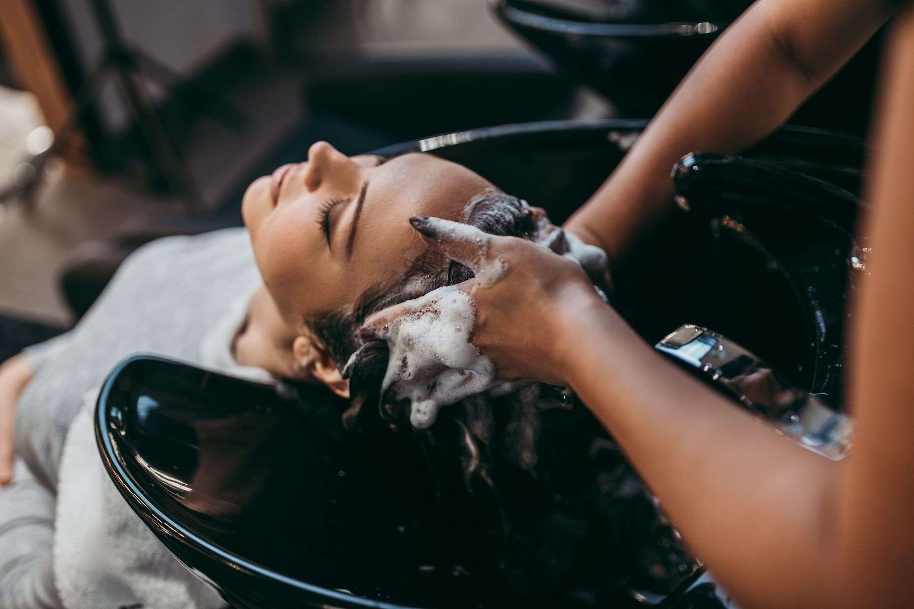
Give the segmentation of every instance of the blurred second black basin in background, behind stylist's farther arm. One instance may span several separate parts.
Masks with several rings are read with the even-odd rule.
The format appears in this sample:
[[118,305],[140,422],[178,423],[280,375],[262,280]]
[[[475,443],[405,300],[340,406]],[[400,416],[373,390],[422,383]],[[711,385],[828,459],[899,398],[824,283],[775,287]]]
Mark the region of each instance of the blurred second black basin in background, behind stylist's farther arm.
[[[751,0],[492,0],[505,26],[571,79],[599,91],[619,117],[649,117]],[[807,101],[792,121],[866,132],[882,35]],[[713,120],[709,117],[708,120]]]

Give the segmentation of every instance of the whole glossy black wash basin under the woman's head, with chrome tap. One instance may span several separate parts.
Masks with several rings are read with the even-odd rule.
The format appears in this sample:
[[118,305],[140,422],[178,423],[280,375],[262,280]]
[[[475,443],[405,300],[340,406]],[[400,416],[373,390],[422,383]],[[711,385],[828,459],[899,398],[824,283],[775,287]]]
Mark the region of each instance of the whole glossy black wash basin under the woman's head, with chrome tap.
[[[641,127],[510,126],[382,152],[467,164],[560,222]],[[615,305],[660,352],[825,452],[846,441],[837,410],[846,297],[866,268],[852,236],[862,147],[788,129],[750,154],[696,154],[676,167],[682,209],[619,269]],[[760,394],[750,377],[771,391]],[[438,508],[410,448],[364,446],[342,432],[338,405],[307,389],[139,356],[108,378],[95,423],[124,499],[233,606],[557,606],[519,600],[473,568],[478,546],[430,516]],[[668,595],[620,590],[603,600],[731,606],[700,570]]]

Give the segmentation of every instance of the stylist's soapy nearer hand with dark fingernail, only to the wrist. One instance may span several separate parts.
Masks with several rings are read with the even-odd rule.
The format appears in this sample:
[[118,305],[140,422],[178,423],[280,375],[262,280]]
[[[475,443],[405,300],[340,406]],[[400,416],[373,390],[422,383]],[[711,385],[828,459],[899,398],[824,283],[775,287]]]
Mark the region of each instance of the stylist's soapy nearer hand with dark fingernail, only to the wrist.
[[[473,270],[460,284],[473,296],[473,343],[494,362],[498,377],[565,384],[563,324],[584,310],[607,309],[583,268],[546,247],[493,236],[465,224],[414,216],[409,222],[442,254]],[[416,301],[378,311],[368,333],[420,312]]]

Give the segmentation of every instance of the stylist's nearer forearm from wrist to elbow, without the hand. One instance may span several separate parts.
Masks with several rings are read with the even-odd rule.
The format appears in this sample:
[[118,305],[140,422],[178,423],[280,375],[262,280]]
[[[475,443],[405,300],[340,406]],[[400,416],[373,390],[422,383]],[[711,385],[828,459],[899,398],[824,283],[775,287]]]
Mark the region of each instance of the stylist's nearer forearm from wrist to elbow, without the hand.
[[777,596],[769,606],[817,606],[831,592],[807,582],[830,579],[834,464],[664,361],[608,311],[566,325],[574,347],[560,367],[572,388],[725,587],[740,600]]

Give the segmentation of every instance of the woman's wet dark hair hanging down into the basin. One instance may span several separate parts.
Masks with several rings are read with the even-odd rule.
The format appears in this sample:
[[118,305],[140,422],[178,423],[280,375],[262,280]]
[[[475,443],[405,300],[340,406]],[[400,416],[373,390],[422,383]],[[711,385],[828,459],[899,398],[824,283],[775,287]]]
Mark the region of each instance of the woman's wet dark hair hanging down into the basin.
[[[493,235],[537,237],[529,207],[498,191],[475,197],[462,222]],[[388,345],[361,337],[362,322],[472,277],[427,250],[395,282],[368,289],[351,312],[310,320],[349,379],[345,427],[419,443],[439,497],[461,506],[462,522],[452,524],[482,533],[515,591],[563,588],[594,598],[621,587],[668,592],[691,559],[619,447],[569,390],[534,383],[502,397],[475,395],[443,407],[425,430],[409,424],[408,402],[381,394]]]

